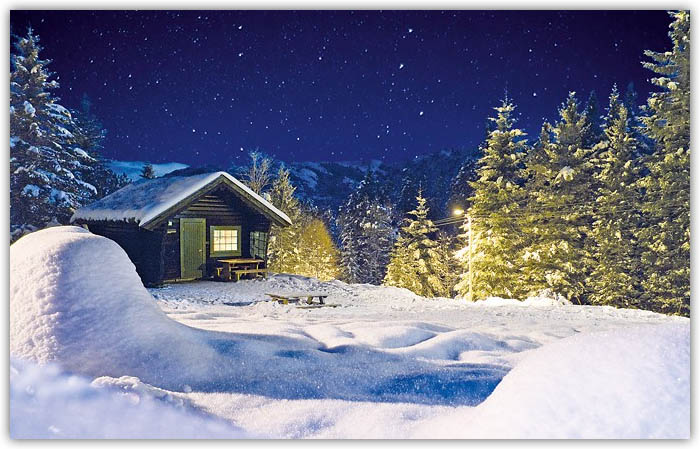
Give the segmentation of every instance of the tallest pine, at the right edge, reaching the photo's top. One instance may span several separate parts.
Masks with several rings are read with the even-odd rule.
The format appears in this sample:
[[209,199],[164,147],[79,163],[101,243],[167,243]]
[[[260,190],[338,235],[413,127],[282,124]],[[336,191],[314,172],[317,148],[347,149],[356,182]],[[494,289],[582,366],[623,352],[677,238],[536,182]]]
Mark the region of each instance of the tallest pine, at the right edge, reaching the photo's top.
[[650,95],[645,134],[656,143],[646,161],[648,175],[642,209],[647,226],[644,245],[644,307],[690,314],[690,12],[670,13],[671,51],[647,50],[644,67],[657,73],[662,89]]

